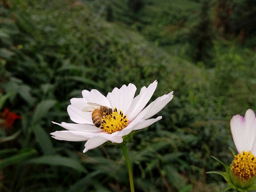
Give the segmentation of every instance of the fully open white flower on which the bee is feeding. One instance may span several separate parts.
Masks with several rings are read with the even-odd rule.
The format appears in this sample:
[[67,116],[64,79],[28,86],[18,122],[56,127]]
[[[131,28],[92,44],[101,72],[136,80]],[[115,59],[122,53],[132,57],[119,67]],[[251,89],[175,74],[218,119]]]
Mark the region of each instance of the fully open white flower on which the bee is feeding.
[[[70,119],[75,123],[62,122],[59,124],[52,122],[64,127],[67,131],[55,131],[51,133],[51,135],[53,135],[54,139],[58,140],[87,141],[85,143],[85,149],[83,150],[84,153],[87,150],[99,147],[106,141],[122,143],[122,137],[124,135],[131,133],[133,130],[144,129],[162,118],[162,116],[158,116],[157,118],[150,119],[150,117],[157,114],[172,100],[173,91],[164,94],[162,97],[158,97],[145,108],[155,92],[156,86],[157,81],[154,81],[148,87],[142,87],[140,93],[135,98],[134,94],[137,88],[131,83],[128,86],[123,85],[120,89],[115,87],[111,93],[107,94],[107,97],[102,95],[98,90],[84,90],[82,91],[83,98],[71,99],[71,105],[68,106]],[[123,115],[125,115],[128,123],[111,134],[109,132],[104,132],[103,129],[100,129],[93,124],[92,112],[83,111],[83,109],[88,106],[87,103],[97,103],[111,109],[116,108],[117,123],[124,121],[122,118]],[[121,115],[121,113],[123,113],[123,115]],[[112,116],[109,121],[116,121],[114,118]],[[105,125],[107,126],[109,123],[106,123]],[[117,126],[118,125],[119,124],[117,124]]]

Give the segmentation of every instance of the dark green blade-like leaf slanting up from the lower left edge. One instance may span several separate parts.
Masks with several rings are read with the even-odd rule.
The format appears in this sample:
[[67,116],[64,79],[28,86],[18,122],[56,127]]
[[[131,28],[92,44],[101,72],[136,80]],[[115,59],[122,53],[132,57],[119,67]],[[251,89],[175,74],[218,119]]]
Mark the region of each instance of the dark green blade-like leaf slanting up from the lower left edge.
[[2,161],[0,161],[0,169],[3,169],[4,167],[9,166],[9,165],[18,164],[18,163],[22,162],[23,160],[25,160],[31,156],[34,156],[35,154],[37,154],[37,151],[35,149],[30,149],[29,151],[23,150],[18,155],[13,155],[11,157],[2,159]]

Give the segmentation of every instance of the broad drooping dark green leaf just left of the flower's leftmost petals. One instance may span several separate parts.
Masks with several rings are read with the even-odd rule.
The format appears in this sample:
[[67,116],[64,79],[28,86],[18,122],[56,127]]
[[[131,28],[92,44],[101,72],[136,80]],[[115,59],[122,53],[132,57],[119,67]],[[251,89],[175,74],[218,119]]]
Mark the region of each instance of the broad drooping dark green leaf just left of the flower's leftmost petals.
[[55,151],[52,146],[52,141],[50,135],[47,134],[41,126],[36,126],[34,129],[36,135],[36,140],[38,141],[40,147],[42,148],[45,155],[54,155]]

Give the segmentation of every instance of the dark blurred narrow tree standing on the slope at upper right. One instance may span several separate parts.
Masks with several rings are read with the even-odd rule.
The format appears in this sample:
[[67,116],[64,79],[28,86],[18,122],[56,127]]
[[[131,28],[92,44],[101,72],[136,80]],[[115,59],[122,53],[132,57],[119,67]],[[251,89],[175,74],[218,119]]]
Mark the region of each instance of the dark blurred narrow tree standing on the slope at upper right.
[[210,63],[213,47],[211,33],[211,19],[209,17],[209,0],[202,2],[202,9],[199,13],[198,22],[190,29],[188,34],[188,54],[194,61],[203,61],[206,67],[213,67]]

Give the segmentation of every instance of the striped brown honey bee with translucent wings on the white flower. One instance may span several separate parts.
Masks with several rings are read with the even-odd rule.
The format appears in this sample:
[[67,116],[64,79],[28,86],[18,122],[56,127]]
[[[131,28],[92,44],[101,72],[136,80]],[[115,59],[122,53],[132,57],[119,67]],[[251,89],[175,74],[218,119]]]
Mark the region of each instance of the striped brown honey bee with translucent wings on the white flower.
[[92,112],[92,122],[95,126],[100,127],[102,117],[112,114],[112,109],[97,103],[87,102],[87,106],[83,108],[85,112]]

